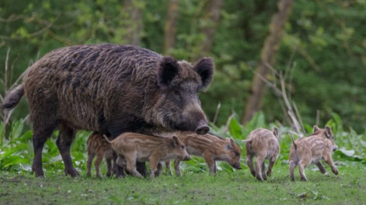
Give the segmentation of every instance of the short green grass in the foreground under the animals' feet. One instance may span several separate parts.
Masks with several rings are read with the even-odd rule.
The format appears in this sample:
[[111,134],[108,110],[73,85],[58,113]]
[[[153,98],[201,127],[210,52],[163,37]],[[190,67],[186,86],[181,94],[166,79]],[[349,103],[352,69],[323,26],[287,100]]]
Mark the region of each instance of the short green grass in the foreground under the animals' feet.
[[306,169],[308,182],[288,179],[278,163],[274,176],[257,182],[244,169],[235,173],[183,173],[156,179],[72,179],[48,174],[36,179],[24,173],[0,172],[0,204],[365,204],[365,167],[339,167],[335,176]]

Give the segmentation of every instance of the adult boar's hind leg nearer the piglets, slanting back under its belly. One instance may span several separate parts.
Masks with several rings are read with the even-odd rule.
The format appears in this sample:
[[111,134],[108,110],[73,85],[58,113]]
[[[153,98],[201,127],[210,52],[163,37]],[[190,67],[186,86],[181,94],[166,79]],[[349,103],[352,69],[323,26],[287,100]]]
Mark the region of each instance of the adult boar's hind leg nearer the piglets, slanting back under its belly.
[[61,123],[59,127],[59,137],[56,140],[57,147],[60,150],[63,164],[65,166],[65,175],[70,174],[71,177],[79,176],[78,171],[72,165],[72,159],[70,155],[70,146],[72,141],[75,139],[76,131],[67,126],[66,123]]

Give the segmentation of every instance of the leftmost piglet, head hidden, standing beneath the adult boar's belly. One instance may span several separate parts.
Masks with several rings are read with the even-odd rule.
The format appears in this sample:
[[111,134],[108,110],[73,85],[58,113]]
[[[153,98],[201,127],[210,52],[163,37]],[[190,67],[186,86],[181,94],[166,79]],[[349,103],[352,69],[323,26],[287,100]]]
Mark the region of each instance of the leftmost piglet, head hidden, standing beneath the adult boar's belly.
[[108,143],[101,134],[97,132],[92,133],[87,141],[88,146],[88,171],[86,176],[91,176],[91,164],[93,163],[94,157],[97,155],[97,159],[94,162],[95,173],[97,177],[102,177],[100,173],[100,165],[105,158],[107,164],[107,177],[112,176],[112,160],[113,160],[113,150],[111,144]]

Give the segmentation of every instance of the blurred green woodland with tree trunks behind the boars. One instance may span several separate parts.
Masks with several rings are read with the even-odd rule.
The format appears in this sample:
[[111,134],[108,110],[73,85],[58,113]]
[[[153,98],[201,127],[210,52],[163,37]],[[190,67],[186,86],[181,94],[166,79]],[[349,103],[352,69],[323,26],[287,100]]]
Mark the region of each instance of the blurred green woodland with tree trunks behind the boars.
[[[1,0],[0,94],[53,49],[133,44],[190,62],[213,57],[200,99],[217,125],[258,111],[291,123],[285,88],[302,122],[323,126],[338,113],[364,132],[365,25],[366,0]],[[27,114],[24,98],[5,120]]]

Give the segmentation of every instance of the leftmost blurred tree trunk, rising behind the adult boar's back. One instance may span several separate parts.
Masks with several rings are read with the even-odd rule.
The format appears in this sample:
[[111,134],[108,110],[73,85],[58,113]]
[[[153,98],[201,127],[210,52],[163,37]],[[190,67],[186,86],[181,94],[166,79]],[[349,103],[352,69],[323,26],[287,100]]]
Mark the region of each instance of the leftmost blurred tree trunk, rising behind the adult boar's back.
[[131,45],[140,45],[142,33],[142,9],[143,2],[135,2],[137,0],[124,0],[122,14],[125,17],[126,32],[123,40]]

